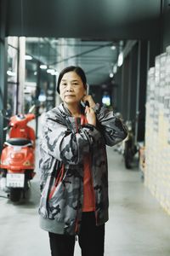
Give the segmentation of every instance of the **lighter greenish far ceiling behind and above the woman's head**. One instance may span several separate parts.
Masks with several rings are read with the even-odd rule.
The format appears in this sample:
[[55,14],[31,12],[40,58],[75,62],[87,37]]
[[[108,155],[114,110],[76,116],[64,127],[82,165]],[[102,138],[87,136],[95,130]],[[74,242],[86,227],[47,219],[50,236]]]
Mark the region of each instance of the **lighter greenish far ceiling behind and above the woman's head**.
[[27,55],[57,72],[66,66],[80,66],[87,75],[88,84],[103,84],[110,79],[120,48],[118,40],[26,38]]

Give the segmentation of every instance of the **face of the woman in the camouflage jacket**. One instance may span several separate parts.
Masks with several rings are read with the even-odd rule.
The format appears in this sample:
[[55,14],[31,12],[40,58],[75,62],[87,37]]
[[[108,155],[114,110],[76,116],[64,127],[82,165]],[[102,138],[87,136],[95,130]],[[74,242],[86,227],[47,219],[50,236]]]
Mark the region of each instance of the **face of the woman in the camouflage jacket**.
[[79,104],[86,94],[86,89],[82,79],[76,72],[65,73],[59,84],[59,95],[66,104]]

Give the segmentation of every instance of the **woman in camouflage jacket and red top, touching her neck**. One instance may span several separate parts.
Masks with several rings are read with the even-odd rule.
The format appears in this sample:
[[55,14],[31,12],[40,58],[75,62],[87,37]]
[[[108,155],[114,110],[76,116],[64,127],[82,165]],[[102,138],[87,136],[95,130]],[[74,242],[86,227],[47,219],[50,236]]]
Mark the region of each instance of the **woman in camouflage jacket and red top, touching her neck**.
[[40,226],[48,231],[52,256],[73,256],[76,237],[82,256],[103,256],[106,145],[122,142],[127,130],[113,111],[87,95],[81,67],[62,70],[57,91],[62,103],[46,113],[40,140]]

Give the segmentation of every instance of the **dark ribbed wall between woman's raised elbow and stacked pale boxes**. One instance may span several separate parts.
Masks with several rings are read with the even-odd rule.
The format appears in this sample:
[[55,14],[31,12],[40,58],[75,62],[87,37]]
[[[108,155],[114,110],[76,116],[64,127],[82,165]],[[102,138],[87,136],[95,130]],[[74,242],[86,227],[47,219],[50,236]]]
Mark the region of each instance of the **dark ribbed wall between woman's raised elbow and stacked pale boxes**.
[[144,141],[148,45],[147,40],[133,45],[115,77],[117,111],[122,113],[124,120],[133,122],[137,141]]

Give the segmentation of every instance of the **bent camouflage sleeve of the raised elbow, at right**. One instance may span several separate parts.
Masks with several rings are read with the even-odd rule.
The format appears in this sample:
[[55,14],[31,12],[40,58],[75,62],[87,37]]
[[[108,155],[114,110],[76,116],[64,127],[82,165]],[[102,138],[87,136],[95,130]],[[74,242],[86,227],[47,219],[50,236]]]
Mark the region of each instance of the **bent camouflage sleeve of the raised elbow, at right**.
[[127,127],[117,118],[113,111],[102,107],[96,112],[99,130],[105,137],[105,144],[114,146],[127,137]]

